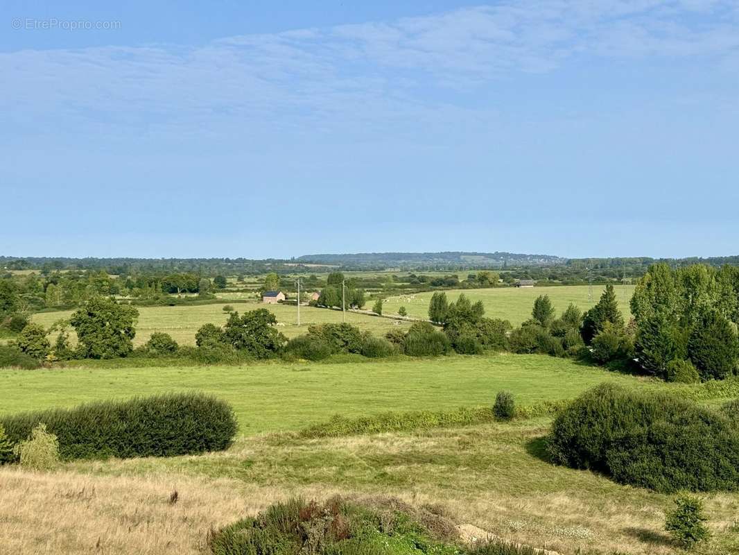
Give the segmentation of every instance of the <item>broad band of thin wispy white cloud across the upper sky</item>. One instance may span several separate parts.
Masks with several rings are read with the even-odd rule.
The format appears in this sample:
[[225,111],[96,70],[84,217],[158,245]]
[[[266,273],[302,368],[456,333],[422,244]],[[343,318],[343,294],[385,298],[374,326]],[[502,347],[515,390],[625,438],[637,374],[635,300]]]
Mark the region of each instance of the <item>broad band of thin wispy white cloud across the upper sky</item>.
[[459,115],[455,90],[573,59],[702,56],[726,67],[738,53],[732,0],[521,0],[203,47],[24,50],[0,55],[0,133],[30,118],[140,131]]

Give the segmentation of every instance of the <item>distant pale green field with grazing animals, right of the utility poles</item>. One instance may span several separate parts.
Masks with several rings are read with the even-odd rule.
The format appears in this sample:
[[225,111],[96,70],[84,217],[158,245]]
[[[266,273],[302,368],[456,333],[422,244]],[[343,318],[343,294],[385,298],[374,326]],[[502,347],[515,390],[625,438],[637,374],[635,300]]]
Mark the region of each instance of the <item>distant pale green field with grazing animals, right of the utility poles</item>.
[[[498,287],[494,289],[453,289],[446,292],[448,300],[456,300],[460,293],[464,293],[473,302],[482,300],[485,306],[485,315],[491,318],[504,318],[510,320],[514,326],[518,326],[531,317],[531,307],[539,295],[549,295],[552,305],[559,315],[570,303],[579,306],[583,311],[589,309],[595,303],[605,286],[593,286],[593,295],[588,300],[588,286],[573,285],[560,287]],[[621,312],[624,317],[630,317],[628,301],[633,295],[634,286],[616,286],[616,298],[619,300]],[[429,300],[433,292],[415,293],[413,295],[398,295],[388,297],[383,306],[384,314],[398,314],[401,306],[406,307],[409,316],[415,318],[429,317]]]

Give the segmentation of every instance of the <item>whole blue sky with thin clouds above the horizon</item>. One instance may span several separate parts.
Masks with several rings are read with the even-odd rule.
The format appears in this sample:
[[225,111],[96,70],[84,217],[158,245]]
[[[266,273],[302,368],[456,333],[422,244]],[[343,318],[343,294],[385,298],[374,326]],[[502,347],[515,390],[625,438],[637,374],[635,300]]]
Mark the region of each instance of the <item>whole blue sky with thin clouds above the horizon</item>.
[[0,9],[0,254],[739,253],[735,0],[56,4]]

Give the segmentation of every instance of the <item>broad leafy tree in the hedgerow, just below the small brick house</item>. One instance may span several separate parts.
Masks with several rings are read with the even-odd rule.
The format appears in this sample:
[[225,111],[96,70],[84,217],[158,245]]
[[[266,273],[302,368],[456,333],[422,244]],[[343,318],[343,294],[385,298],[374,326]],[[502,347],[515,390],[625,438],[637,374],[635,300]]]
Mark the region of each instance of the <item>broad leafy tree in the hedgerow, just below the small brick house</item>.
[[256,309],[239,316],[231,312],[223,326],[223,337],[237,351],[245,351],[255,358],[273,356],[287,339],[275,329],[275,315],[267,309]]

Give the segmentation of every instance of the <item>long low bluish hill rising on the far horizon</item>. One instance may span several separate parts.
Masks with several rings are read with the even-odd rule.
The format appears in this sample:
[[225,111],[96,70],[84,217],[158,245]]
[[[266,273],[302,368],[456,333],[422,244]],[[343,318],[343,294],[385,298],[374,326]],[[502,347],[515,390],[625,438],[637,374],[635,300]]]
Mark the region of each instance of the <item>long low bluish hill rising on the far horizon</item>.
[[303,255],[296,262],[330,264],[344,267],[378,268],[449,268],[503,266],[550,266],[567,262],[553,255],[525,255],[516,252],[358,252],[344,255]]

